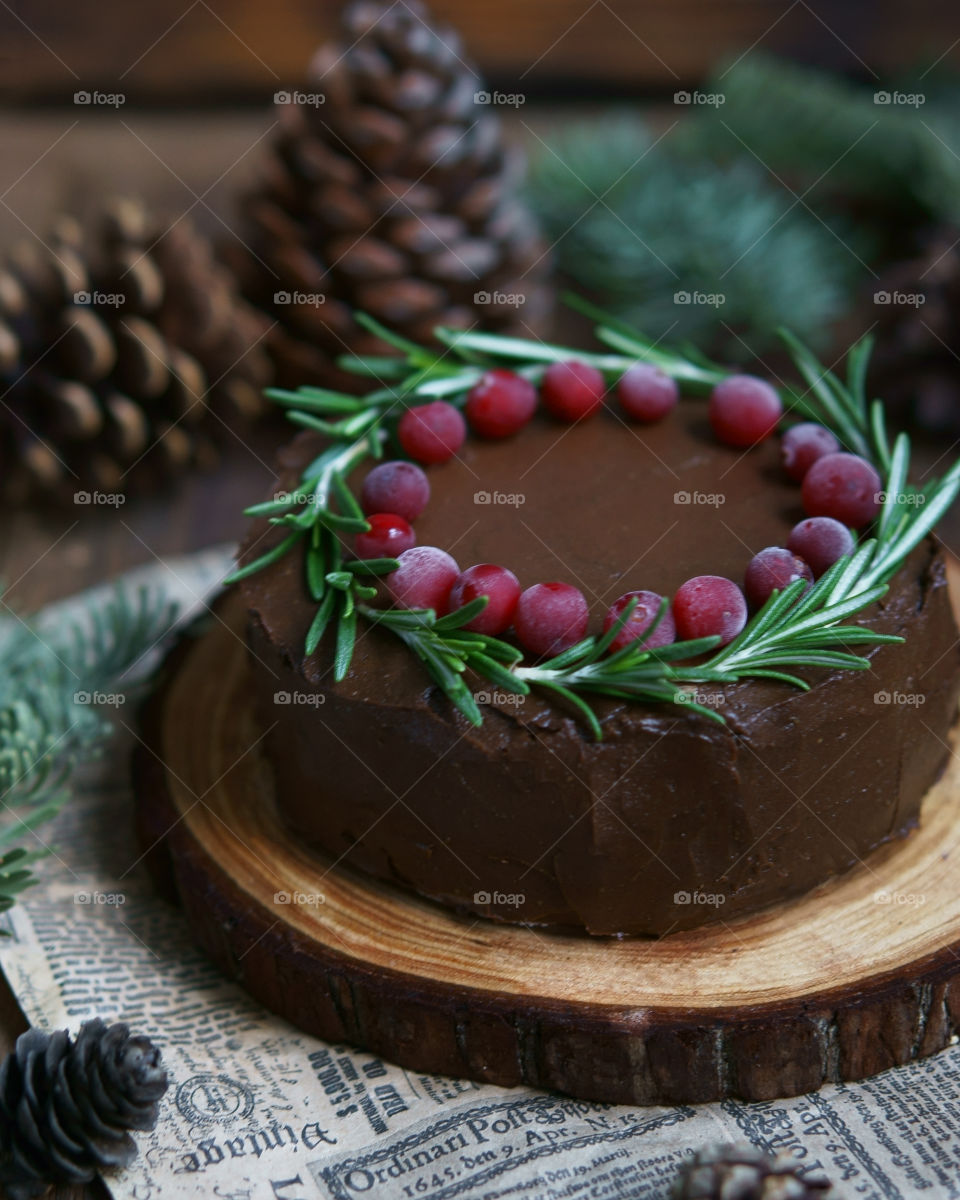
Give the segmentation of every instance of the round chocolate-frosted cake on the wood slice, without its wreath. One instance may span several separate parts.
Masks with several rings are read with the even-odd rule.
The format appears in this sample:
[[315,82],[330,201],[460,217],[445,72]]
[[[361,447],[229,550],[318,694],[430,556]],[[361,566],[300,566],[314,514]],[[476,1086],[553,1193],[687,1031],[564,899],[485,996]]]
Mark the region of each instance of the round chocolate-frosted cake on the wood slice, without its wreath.
[[[319,445],[292,443],[281,488]],[[538,415],[510,440],[469,439],[430,481],[421,545],[462,566],[508,564],[524,587],[576,582],[593,631],[631,588],[742,581],[804,515],[776,439],[718,444],[697,401],[650,426]],[[278,536],[258,523],[247,545],[262,553]],[[906,638],[862,648],[870,670],[810,670],[806,692],[770,679],[701,689],[725,724],[600,698],[600,742],[554,697],[481,679],[473,727],[380,628],[361,629],[335,683],[329,634],[304,656],[316,606],[299,552],[242,587],[276,802],[325,856],[318,872],[332,859],[498,920],[662,936],[756,912],[907,835],[948,755],[960,644],[932,538],[856,618]]]

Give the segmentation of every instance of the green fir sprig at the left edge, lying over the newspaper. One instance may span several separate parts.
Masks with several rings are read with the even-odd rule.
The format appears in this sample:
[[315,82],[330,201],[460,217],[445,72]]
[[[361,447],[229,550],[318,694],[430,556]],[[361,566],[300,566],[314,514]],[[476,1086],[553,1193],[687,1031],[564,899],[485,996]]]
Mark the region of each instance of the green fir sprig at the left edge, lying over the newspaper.
[[0,912],[34,882],[47,853],[36,830],[71,794],[74,770],[103,745],[97,701],[170,631],[176,606],[162,594],[118,588],[67,626],[0,614]]

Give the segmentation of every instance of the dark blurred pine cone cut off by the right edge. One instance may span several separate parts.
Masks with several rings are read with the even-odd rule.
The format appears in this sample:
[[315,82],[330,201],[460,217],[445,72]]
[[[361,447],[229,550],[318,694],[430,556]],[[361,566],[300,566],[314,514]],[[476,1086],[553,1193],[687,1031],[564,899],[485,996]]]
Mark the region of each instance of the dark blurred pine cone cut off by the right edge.
[[871,288],[871,395],[904,425],[960,434],[960,230],[941,226]]

